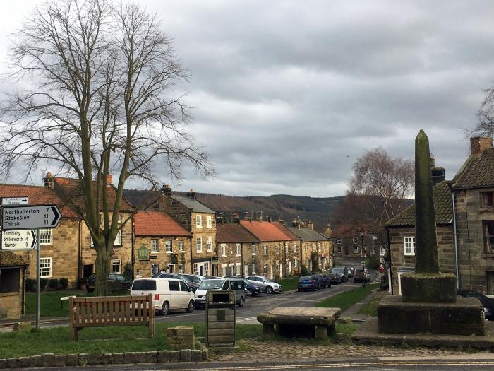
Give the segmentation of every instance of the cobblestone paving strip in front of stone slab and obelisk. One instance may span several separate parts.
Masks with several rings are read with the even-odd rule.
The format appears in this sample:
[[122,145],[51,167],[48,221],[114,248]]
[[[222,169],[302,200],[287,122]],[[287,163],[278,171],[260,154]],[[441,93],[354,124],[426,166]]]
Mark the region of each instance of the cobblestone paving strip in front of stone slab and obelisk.
[[[354,344],[332,343],[330,345],[306,344],[296,341],[258,341],[246,339],[240,341],[241,348],[248,351],[234,353],[210,352],[210,360],[262,360],[262,359],[300,359],[300,358],[351,358],[351,357],[404,357],[404,356],[436,356],[436,355],[471,355],[471,352],[454,349],[433,348],[399,348],[391,346],[356,346]],[[481,352],[478,352],[481,353]],[[484,353],[489,353],[488,351]]]

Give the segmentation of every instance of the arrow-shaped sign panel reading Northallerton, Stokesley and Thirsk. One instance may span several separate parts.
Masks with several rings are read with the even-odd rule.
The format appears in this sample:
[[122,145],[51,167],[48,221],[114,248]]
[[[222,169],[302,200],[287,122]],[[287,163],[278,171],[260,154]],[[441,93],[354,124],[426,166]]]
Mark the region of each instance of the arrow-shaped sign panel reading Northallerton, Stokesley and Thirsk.
[[4,206],[1,225],[4,230],[55,228],[61,214],[55,204],[31,206]]

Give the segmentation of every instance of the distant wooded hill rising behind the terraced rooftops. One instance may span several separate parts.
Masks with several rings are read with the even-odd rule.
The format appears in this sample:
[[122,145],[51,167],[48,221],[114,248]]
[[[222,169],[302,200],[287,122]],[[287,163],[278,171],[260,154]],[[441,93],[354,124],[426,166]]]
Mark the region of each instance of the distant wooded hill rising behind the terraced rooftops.
[[[184,194],[183,192],[177,193]],[[159,192],[145,192],[135,189],[126,189],[123,194],[134,206],[147,204],[147,200],[159,197]],[[270,216],[273,220],[278,220],[281,214],[283,220],[287,222],[299,217],[304,221],[311,220],[316,227],[324,227],[344,197],[307,197],[286,194],[275,194],[269,197],[241,197],[198,193],[197,199],[218,213],[222,213],[226,222],[231,221],[231,213],[234,211],[237,211],[241,218],[248,211],[253,216],[262,212],[263,217]]]

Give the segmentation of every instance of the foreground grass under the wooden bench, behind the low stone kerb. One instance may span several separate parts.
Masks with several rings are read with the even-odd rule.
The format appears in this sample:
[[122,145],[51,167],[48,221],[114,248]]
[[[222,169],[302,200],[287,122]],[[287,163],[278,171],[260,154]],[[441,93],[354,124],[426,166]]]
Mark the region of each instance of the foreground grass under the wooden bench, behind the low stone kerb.
[[[0,358],[27,357],[43,353],[123,353],[168,350],[166,329],[174,326],[193,326],[196,337],[206,334],[203,323],[155,324],[155,338],[147,338],[145,326],[100,327],[82,329],[79,341],[68,341],[68,327],[54,327],[40,331],[0,334]],[[237,324],[236,339],[261,336],[263,327],[255,324]]]

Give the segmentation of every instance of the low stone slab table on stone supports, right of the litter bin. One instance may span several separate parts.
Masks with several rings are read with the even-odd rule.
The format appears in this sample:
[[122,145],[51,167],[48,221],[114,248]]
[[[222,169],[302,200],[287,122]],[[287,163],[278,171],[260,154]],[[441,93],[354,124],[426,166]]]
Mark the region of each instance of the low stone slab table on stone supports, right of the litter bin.
[[275,334],[275,325],[280,335],[303,336],[310,334],[317,339],[327,338],[335,331],[335,322],[341,314],[339,308],[276,307],[258,315],[263,324],[263,334]]

